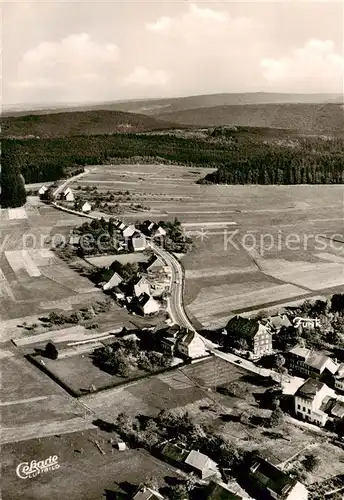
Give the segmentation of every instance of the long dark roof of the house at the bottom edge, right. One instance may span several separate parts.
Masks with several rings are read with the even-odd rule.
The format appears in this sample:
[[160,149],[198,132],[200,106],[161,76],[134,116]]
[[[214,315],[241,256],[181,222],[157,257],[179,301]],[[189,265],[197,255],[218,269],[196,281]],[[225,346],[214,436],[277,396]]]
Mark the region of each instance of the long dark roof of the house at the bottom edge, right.
[[287,496],[288,491],[297,483],[296,479],[291,478],[261,457],[254,459],[250,469],[250,476],[257,486],[262,489],[269,489],[281,498]]

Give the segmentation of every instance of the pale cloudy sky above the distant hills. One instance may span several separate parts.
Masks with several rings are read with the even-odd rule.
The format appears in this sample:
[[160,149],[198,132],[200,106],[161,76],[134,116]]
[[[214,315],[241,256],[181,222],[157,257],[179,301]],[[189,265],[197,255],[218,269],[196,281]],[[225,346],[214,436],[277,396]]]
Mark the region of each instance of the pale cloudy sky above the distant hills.
[[343,92],[343,5],[4,2],[2,104]]

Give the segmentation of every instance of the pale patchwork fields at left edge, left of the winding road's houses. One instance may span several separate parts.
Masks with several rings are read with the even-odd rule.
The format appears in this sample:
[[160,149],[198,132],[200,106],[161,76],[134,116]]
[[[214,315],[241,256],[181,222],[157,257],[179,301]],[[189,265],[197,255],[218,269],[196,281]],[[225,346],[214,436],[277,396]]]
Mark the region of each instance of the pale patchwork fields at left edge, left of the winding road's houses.
[[[0,341],[34,332],[20,327],[39,324],[51,311],[74,310],[104,300],[101,290],[63,262],[53,251],[84,218],[65,214],[33,197],[22,209],[0,210]],[[25,215],[25,217],[24,217]],[[100,329],[132,326],[128,313],[114,305],[97,318]]]

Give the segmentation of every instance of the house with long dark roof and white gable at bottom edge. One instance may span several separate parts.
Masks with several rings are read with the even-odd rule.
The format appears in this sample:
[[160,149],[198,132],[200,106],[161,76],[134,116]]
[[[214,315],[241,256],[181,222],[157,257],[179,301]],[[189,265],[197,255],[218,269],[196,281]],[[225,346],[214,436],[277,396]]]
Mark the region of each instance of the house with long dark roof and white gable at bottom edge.
[[275,500],[307,500],[308,490],[297,479],[256,457],[250,467],[248,478],[250,488],[259,498]]

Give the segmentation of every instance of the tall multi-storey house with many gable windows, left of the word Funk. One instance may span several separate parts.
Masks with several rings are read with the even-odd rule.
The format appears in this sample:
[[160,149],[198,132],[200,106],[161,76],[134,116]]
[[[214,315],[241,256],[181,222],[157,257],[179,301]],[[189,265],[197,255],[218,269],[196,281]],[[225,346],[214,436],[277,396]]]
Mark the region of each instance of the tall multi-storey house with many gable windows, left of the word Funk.
[[225,333],[230,339],[246,340],[252,358],[259,358],[272,352],[270,328],[257,319],[235,316],[227,323]]

